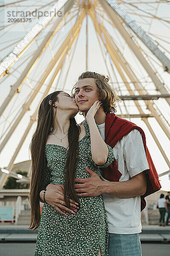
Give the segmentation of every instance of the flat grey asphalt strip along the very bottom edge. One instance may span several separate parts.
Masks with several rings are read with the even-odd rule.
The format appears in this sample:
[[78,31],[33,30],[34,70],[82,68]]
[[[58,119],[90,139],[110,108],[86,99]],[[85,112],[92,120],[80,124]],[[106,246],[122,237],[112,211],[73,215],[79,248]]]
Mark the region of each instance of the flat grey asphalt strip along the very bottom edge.
[[[141,244],[141,246],[142,256],[170,255],[170,244]],[[35,243],[0,243],[2,256],[34,256],[34,251]]]

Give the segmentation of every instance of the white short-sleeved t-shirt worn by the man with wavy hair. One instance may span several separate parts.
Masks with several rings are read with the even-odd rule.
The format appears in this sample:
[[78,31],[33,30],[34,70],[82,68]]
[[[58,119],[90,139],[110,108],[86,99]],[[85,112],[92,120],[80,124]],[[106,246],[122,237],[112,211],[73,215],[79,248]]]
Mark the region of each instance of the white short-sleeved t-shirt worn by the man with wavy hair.
[[[105,123],[98,125],[103,140],[105,139]],[[131,177],[149,169],[144,144],[140,132],[134,129],[119,140],[113,148],[114,157],[122,176],[119,181],[130,180]],[[102,177],[101,180],[105,180]],[[118,198],[103,194],[109,224],[109,233],[135,234],[141,233],[141,199],[140,196]]]

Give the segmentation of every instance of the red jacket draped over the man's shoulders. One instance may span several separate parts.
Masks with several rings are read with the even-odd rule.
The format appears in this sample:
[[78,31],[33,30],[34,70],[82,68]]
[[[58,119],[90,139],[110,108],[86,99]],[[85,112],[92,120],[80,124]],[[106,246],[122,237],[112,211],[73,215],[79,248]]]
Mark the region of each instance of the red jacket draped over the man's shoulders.
[[[154,192],[161,189],[161,184],[158,179],[158,174],[156,172],[155,166],[153,164],[152,158],[150,156],[150,153],[146,145],[146,137],[145,137],[144,131],[140,127],[135,125],[133,122],[127,121],[126,119],[121,119],[115,114],[108,113],[105,121],[105,140],[104,141],[110,147],[114,148],[118,140],[120,140],[125,135],[130,133],[130,131],[132,131],[133,129],[137,129],[141,133],[143,143],[144,143],[144,149],[147,156],[147,162],[150,168],[146,173],[147,191],[144,195],[141,195],[141,211],[142,211],[146,207],[146,201],[144,198],[147,195],[151,195]],[[119,181],[122,175],[117,168],[117,164],[115,160],[111,163],[110,166],[102,170],[103,170],[103,177],[109,181]]]

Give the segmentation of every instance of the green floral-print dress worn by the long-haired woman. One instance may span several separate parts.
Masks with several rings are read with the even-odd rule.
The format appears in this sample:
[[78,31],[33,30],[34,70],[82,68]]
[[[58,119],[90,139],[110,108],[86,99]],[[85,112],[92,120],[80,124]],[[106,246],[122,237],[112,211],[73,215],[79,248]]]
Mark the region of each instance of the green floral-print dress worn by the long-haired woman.
[[[98,167],[105,168],[113,162],[113,151],[107,145],[107,162],[101,166],[96,165],[91,155],[89,125],[86,120],[83,124],[86,135],[79,141],[75,177],[89,178],[86,166],[100,177]],[[49,183],[63,184],[67,153],[64,146],[46,144],[47,169],[41,190]],[[43,204],[34,256],[98,256],[99,247],[101,256],[108,256],[109,228],[103,196],[79,197],[79,202],[78,212],[68,216],[62,215],[48,203]]]

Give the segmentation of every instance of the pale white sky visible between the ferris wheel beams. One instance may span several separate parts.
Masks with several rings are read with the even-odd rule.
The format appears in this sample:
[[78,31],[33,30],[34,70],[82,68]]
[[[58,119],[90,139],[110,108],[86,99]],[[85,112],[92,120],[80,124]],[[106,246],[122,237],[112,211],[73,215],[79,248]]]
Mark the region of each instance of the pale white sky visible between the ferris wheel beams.
[[[43,3],[46,3],[47,1],[44,1]],[[130,1],[132,2],[132,1]],[[143,1],[145,2],[145,1]],[[31,1],[28,1],[27,4],[29,6],[25,6],[25,9],[32,9]],[[26,5],[26,4],[25,4]],[[149,6],[145,5],[143,6],[145,9],[149,9]],[[38,3],[37,3],[38,8]],[[167,24],[164,21],[156,20],[154,19],[152,24],[150,23],[151,20],[149,20],[147,17],[145,17],[147,14],[144,12],[132,12],[131,6],[128,5],[122,5],[122,8],[127,10],[129,14],[138,22],[140,26],[145,29],[145,31],[152,32],[153,35],[156,35],[156,40],[160,43],[160,49],[162,51],[166,52],[166,55],[169,57],[169,44],[167,43],[170,39],[170,29],[169,24]],[[132,9],[133,10],[133,9]],[[6,14],[7,9],[5,10],[4,14]],[[139,14],[142,14],[143,16],[140,16]],[[152,8],[150,8],[150,13],[155,14],[155,11],[153,11]],[[158,17],[168,17],[170,13],[170,4],[161,4],[158,8],[158,11],[156,15]],[[72,13],[74,15],[74,13]],[[2,16],[1,16],[2,17]],[[3,31],[0,31],[0,58],[3,59],[15,46],[17,41],[19,41],[24,35],[26,35],[26,31],[28,32],[37,20],[32,20],[31,24],[21,24],[22,26],[9,26],[6,27]],[[1,24],[3,24],[3,20],[1,20]],[[54,22],[53,22],[54,24]],[[150,27],[151,24],[151,27]],[[110,25],[107,21],[104,22],[104,25],[107,28],[107,31],[112,35],[112,38],[115,42],[115,44],[119,47],[121,52],[124,52],[124,57],[126,58],[127,62],[130,64],[130,67],[133,69],[135,75],[138,77],[138,79],[141,81],[141,84],[145,87],[145,89],[150,94],[156,94],[155,87],[153,83],[151,82],[150,78],[148,77],[146,71],[139,63],[138,59],[135,57],[133,52],[130,50],[130,48],[125,44],[124,39],[120,36],[119,32],[114,28],[114,26]],[[25,27],[24,27],[25,26]],[[53,38],[50,47],[46,49],[46,52],[43,53],[40,60],[37,62],[35,67],[32,69],[31,73],[28,76],[28,79],[24,82],[24,84],[20,87],[20,93],[17,93],[13,99],[11,100],[10,104],[6,108],[6,111],[4,111],[3,116],[0,118],[0,138],[1,141],[3,140],[4,136],[11,130],[11,126],[14,123],[14,120],[18,118],[20,115],[21,109],[26,105],[27,99],[29,99],[31,93],[34,92],[34,89],[37,87],[37,85],[40,82],[40,79],[43,75],[43,72],[48,67],[52,55],[56,53],[58,48],[61,46],[61,44],[64,42],[64,38],[68,34],[68,29],[70,29],[69,24],[65,24],[65,26],[62,27],[61,32],[55,35]],[[150,27],[150,29],[149,29]],[[44,30],[37,38],[35,42],[31,44],[31,46],[24,52],[24,54],[20,57],[19,61],[17,61],[16,64],[14,64],[10,69],[10,74],[6,77],[3,77],[0,79],[0,105],[3,103],[3,101],[6,99],[6,96],[10,92],[10,86],[17,83],[20,75],[24,71],[24,69],[29,64],[30,59],[34,55],[34,53],[40,48],[41,43],[43,41],[44,36],[48,34],[51,27],[47,26],[47,29]],[[100,47],[100,44],[98,42],[98,39],[95,34],[95,29],[92,25],[92,21],[88,20],[88,29],[89,29],[89,37],[88,37],[88,70],[95,71],[96,73],[101,73],[105,75],[110,75],[110,83],[112,84],[114,90],[116,90],[116,93],[118,95],[129,95],[127,88],[122,83],[121,76],[118,74],[117,70],[115,69],[114,65],[111,65],[109,62],[109,58],[107,56],[107,52],[104,48],[104,44]],[[65,90],[67,93],[71,93],[72,86],[75,84],[75,82],[78,79],[78,76],[86,71],[86,47],[85,47],[85,20],[82,23],[80,35],[77,41],[77,45],[73,44],[71,52],[69,52],[69,55],[66,57],[65,64],[63,64],[63,70],[61,72],[61,75],[58,75],[56,79],[54,80],[52,84],[52,88],[49,91],[53,92],[54,90]],[[162,40],[158,40],[158,37]],[[140,41],[138,41],[138,44],[141,45],[142,49],[147,53],[147,55],[150,58],[150,62],[155,67],[155,70],[158,72],[158,74],[161,76],[161,81],[164,82],[165,87],[169,88],[169,74],[167,72],[164,72],[161,63],[153,56],[153,54],[150,52],[147,47],[145,47]],[[52,51],[51,51],[52,49]],[[102,50],[101,50],[102,49]],[[105,62],[106,61],[106,62]],[[107,64],[107,65],[106,65]],[[53,70],[52,73],[53,74]],[[126,75],[125,75],[126,76]],[[0,153],[0,167],[6,167],[8,166],[16,148],[17,145],[20,143],[20,140],[26,131],[26,128],[30,122],[30,116],[35,112],[35,108],[40,104],[42,101],[43,92],[46,89],[46,86],[48,85],[50,78],[46,79],[44,85],[42,88],[40,88],[39,92],[37,93],[35,99],[30,104],[30,110],[25,111],[26,113],[22,117],[21,121],[18,123],[17,128],[14,130],[11,138],[6,143],[5,147],[3,148],[3,151]],[[127,81],[128,78],[127,78]],[[130,84],[132,90],[135,94],[138,94],[136,90],[134,90],[133,84]],[[143,109],[144,113],[149,113],[149,110],[147,110],[146,105],[143,101],[138,102],[138,104]],[[126,109],[128,113],[138,113],[137,108],[134,105],[134,102],[129,101],[125,102],[126,108],[124,106],[124,102],[120,102],[117,104],[117,113],[120,114],[121,111],[123,113],[126,113]],[[167,102],[164,99],[159,99],[155,102],[155,106],[163,113],[165,119],[167,122],[170,122],[170,109],[167,104]],[[76,116],[77,122],[81,122],[83,120],[83,116],[80,116],[79,114]],[[156,143],[153,140],[153,137],[151,136],[150,132],[148,131],[146,125],[142,120],[139,118],[131,119],[131,122],[134,122],[135,124],[139,125],[146,134],[147,139],[147,146],[149,148],[150,154],[153,158],[153,162],[156,166],[156,170],[159,173],[165,172],[168,170],[168,166],[164,161],[164,158],[161,155],[161,152],[159,151]],[[153,128],[153,131],[155,132],[156,136],[158,137],[159,142],[161,143],[162,148],[164,149],[165,153],[167,154],[167,157],[170,159],[170,143],[167,138],[167,136],[162,131],[160,125],[158,125],[158,122],[154,118],[149,118],[148,121],[150,122],[150,125]],[[10,126],[11,125],[11,126]],[[30,152],[29,152],[29,144],[31,142],[32,134],[34,133],[36,128],[36,123],[34,123],[27,134],[23,145],[20,148],[19,153],[17,154],[16,159],[14,160],[14,163],[22,162],[24,160],[30,159]],[[170,190],[170,180],[168,179],[168,175],[165,175],[163,177],[160,177],[161,186],[164,190]]]

